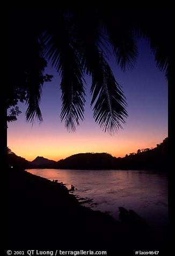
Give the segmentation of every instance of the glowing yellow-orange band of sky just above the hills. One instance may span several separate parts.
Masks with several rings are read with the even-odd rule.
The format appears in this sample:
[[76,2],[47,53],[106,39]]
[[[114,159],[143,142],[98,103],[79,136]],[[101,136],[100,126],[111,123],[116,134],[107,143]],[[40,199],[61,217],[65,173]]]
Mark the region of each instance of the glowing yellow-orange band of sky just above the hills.
[[[165,136],[166,137],[166,136]],[[164,137],[164,138],[165,138]],[[164,138],[156,139],[109,136],[82,137],[79,134],[67,134],[67,137],[38,137],[28,139],[23,136],[9,139],[9,148],[15,154],[28,161],[34,160],[37,156],[50,160],[59,161],[78,153],[109,153],[113,157],[125,157],[126,154],[137,152],[138,149],[156,147]],[[24,143],[25,141],[25,143]]]

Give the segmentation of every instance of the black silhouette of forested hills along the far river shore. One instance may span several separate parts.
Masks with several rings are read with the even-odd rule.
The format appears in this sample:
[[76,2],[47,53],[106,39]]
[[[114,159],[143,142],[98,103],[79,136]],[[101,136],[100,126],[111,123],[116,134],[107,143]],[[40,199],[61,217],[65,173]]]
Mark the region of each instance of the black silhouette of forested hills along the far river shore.
[[[28,162],[28,168],[56,168],[56,169],[136,169],[162,170],[167,172],[168,138],[155,148],[138,149],[137,153],[130,153],[124,158],[115,158],[108,153],[79,153],[58,162],[37,157],[35,162]],[[40,164],[38,164],[40,163]]]

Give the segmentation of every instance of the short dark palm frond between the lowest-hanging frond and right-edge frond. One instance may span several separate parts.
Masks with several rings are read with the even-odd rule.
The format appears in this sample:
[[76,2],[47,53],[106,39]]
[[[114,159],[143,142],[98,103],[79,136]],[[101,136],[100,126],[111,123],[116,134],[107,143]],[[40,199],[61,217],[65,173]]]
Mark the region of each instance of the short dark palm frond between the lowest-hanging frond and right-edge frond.
[[[117,12],[117,15],[116,15]],[[121,69],[133,68],[137,59],[137,35],[130,24],[127,8],[100,8],[103,30],[108,35],[116,62]]]

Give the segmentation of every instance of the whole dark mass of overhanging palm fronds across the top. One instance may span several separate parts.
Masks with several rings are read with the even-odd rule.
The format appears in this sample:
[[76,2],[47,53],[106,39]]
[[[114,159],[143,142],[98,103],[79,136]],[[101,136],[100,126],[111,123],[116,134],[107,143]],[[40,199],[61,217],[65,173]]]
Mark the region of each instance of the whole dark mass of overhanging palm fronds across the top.
[[12,104],[9,100],[8,108],[18,100],[26,101],[27,121],[33,122],[35,117],[42,120],[39,102],[43,83],[52,79],[50,75],[43,75],[50,61],[61,77],[61,120],[65,120],[69,131],[75,131],[79,120],[84,118],[86,74],[92,77],[91,106],[95,121],[110,134],[122,128],[127,117],[126,98],[107,60],[114,54],[123,71],[133,68],[137,40],[144,37],[150,42],[157,67],[167,77],[166,22],[158,29],[165,10],[160,10],[10,9],[8,91],[16,101]]

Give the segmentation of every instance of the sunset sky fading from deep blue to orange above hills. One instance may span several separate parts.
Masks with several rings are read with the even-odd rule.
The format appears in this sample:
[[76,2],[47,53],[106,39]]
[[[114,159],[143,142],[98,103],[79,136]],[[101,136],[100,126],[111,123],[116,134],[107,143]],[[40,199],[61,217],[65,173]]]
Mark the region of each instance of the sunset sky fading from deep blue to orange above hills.
[[43,122],[27,123],[26,105],[20,103],[23,112],[16,122],[8,123],[7,145],[28,161],[38,155],[60,160],[76,153],[106,152],[114,157],[125,157],[138,149],[156,147],[168,136],[167,81],[156,68],[154,55],[148,42],[138,41],[138,58],[134,69],[123,73],[114,58],[110,59],[116,81],[122,86],[127,99],[128,118],[114,136],[103,132],[94,122],[90,108],[91,78],[86,77],[86,103],[84,121],[75,133],[69,133],[61,123],[60,77],[50,66],[46,73],[54,75],[52,82],[43,86],[40,108]]

